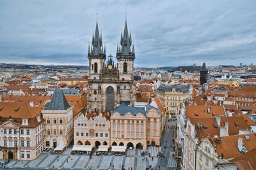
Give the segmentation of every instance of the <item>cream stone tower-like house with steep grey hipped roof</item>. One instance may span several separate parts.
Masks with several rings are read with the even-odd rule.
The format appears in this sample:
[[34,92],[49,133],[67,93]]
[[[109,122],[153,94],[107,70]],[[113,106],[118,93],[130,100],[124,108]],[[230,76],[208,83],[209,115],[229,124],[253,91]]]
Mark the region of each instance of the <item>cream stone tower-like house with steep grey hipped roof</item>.
[[45,147],[68,146],[73,139],[73,108],[62,90],[55,90],[52,99],[42,108],[45,119]]

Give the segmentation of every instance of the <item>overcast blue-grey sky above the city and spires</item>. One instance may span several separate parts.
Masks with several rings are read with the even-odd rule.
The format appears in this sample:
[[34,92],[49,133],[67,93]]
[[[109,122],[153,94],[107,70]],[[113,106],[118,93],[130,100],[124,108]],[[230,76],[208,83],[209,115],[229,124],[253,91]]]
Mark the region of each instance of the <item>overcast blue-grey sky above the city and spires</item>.
[[127,24],[136,67],[256,64],[255,0],[0,0],[0,62],[88,65],[96,11],[107,55]]

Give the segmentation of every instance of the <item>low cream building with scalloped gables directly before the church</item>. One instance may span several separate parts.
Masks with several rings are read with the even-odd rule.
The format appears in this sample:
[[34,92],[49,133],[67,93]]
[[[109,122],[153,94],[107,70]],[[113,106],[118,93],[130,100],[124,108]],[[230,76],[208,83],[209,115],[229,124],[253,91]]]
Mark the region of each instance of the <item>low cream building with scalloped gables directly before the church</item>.
[[74,121],[74,144],[93,145],[96,148],[99,145],[109,146],[109,115],[105,113],[104,117],[101,113],[85,113],[77,117]]

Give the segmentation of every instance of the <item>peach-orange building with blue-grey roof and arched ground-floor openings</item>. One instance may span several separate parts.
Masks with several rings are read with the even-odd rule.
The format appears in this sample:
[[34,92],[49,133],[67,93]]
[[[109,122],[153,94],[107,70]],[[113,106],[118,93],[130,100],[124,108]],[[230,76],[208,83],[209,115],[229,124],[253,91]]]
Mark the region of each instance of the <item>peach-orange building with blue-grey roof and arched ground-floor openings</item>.
[[111,145],[147,149],[159,146],[163,131],[163,113],[147,103],[134,106],[121,104],[114,110],[111,121]]

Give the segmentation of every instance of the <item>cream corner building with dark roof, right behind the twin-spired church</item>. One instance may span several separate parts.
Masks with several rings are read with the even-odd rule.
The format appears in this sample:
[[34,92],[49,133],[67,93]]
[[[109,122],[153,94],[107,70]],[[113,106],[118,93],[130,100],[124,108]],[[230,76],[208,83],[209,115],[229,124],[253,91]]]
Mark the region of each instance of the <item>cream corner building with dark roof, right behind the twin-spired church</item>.
[[165,115],[168,118],[175,117],[181,103],[192,96],[190,85],[160,85],[156,89],[156,96],[165,107]]

